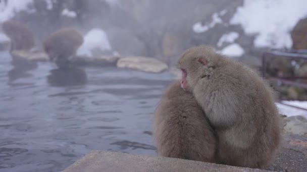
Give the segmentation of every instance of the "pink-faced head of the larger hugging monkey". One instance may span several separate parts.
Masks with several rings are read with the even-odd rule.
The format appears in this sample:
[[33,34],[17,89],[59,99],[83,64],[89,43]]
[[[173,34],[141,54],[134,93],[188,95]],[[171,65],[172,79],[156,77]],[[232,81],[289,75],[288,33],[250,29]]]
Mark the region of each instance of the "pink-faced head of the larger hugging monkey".
[[181,88],[192,91],[199,79],[209,79],[219,67],[222,56],[209,46],[198,46],[187,49],[178,61],[182,71]]

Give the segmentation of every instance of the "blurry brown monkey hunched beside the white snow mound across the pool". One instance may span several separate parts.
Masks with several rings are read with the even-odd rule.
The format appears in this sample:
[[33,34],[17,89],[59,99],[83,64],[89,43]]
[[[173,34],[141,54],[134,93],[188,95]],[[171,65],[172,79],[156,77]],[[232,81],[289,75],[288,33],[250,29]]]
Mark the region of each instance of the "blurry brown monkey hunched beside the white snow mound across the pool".
[[84,39],[75,29],[64,28],[49,35],[43,42],[44,51],[49,59],[57,63],[65,63],[76,55]]

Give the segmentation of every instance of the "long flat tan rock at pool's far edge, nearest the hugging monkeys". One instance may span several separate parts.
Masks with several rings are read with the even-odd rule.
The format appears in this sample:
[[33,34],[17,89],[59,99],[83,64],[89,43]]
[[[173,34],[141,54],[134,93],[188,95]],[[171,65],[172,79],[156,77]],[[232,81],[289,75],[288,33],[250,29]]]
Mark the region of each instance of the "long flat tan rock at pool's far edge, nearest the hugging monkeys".
[[168,69],[168,65],[150,57],[131,56],[121,58],[117,62],[117,67],[136,69],[144,72],[162,72]]

